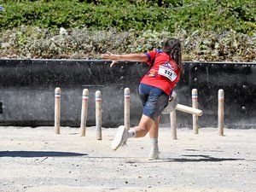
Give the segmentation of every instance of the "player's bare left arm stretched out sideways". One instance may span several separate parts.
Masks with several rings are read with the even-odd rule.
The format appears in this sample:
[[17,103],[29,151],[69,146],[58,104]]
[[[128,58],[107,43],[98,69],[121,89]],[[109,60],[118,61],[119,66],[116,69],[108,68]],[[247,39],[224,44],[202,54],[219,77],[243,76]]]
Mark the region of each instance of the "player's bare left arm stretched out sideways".
[[148,56],[145,54],[125,54],[125,55],[103,54],[102,58],[108,61],[113,61],[110,67],[113,67],[113,64],[116,61],[142,61],[142,62],[148,61]]

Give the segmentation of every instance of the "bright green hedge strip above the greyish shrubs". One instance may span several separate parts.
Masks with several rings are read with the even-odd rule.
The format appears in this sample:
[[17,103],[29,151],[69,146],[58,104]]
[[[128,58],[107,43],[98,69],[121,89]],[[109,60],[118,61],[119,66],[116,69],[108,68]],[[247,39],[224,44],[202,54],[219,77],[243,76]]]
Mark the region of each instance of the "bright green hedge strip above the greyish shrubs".
[[2,5],[5,11],[0,12],[1,29],[22,25],[158,32],[174,32],[177,28],[218,32],[232,29],[252,35],[256,28],[256,8],[251,0],[6,0]]

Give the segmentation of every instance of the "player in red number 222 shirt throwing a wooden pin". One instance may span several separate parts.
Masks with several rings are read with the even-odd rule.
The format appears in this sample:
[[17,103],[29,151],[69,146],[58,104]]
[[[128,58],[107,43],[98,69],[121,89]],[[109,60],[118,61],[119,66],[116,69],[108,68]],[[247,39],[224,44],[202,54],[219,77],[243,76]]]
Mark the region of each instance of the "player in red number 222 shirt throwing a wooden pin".
[[159,159],[159,124],[160,114],[172,100],[172,91],[183,73],[181,42],[177,38],[167,39],[162,50],[151,50],[147,53],[114,55],[103,54],[102,58],[113,61],[142,61],[148,63],[148,72],[141,79],[137,92],[143,102],[143,115],[139,124],[129,131],[124,125],[117,129],[112,142],[112,149],[116,150],[131,137],[144,137],[149,132],[152,148],[148,160]]

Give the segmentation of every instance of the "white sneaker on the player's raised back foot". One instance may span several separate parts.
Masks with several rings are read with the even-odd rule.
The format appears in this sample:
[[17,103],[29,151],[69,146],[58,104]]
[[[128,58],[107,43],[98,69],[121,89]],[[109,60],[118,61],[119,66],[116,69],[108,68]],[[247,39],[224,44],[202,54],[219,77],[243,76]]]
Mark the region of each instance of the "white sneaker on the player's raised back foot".
[[111,148],[113,150],[118,149],[119,147],[121,147],[122,145],[124,145],[127,141],[127,135],[128,135],[128,131],[125,129],[124,125],[120,125],[117,128],[117,132],[116,135],[113,139],[113,142],[111,144]]

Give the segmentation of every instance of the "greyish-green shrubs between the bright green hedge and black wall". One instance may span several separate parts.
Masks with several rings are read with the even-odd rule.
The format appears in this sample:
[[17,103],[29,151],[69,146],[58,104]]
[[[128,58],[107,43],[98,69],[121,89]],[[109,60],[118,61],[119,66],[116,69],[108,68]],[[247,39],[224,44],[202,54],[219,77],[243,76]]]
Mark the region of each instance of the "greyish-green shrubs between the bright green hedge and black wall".
[[183,61],[256,61],[256,33],[252,37],[236,31],[202,30],[175,32],[129,30],[119,32],[70,29],[49,31],[21,26],[0,32],[0,57],[99,59],[107,50],[113,53],[146,52],[160,49],[170,37],[183,42]]

